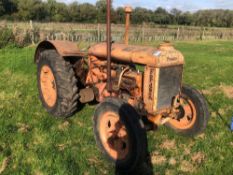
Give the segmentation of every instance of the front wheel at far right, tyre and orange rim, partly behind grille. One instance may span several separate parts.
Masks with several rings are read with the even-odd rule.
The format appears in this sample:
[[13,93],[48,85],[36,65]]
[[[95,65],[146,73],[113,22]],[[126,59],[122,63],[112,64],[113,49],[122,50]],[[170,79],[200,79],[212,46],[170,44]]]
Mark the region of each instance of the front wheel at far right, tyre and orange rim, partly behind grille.
[[172,119],[167,126],[185,136],[195,136],[204,131],[209,120],[205,98],[197,90],[183,86],[178,119]]

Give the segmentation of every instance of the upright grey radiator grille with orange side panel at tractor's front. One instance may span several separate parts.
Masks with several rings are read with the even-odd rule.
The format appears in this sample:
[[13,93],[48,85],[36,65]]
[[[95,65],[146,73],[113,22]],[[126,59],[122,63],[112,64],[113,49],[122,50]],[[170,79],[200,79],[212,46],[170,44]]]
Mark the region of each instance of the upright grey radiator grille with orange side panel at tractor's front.
[[155,114],[172,106],[173,98],[180,92],[183,66],[166,68],[146,67],[143,99],[147,112]]

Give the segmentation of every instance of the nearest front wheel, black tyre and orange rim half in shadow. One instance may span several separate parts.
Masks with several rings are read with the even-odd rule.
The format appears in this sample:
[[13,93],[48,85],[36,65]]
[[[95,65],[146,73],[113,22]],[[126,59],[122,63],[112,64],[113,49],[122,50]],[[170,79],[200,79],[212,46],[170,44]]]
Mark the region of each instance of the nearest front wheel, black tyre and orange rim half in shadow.
[[94,114],[98,147],[120,173],[129,173],[146,158],[146,131],[135,109],[118,99],[99,104]]

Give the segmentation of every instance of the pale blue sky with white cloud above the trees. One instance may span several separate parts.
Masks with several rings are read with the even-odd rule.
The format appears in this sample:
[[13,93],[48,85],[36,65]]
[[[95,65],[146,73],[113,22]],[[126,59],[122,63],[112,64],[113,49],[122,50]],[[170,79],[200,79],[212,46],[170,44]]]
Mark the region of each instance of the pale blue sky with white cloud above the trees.
[[[71,3],[75,0],[58,0]],[[89,2],[95,4],[97,0],[78,0],[80,3]],[[145,7],[156,9],[163,7],[167,10],[177,8],[183,11],[197,11],[200,9],[233,9],[233,0],[114,0],[114,7],[131,5],[133,7]]]

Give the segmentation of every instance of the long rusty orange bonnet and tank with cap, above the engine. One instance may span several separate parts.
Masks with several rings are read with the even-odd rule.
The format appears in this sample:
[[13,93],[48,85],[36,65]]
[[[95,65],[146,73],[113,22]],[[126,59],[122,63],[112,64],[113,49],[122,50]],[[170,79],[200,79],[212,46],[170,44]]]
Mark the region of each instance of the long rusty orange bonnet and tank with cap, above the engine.
[[[90,47],[90,56],[107,59],[106,43]],[[113,61],[134,63],[153,67],[169,67],[184,64],[184,56],[170,43],[163,43],[158,48],[112,44],[111,57]]]

